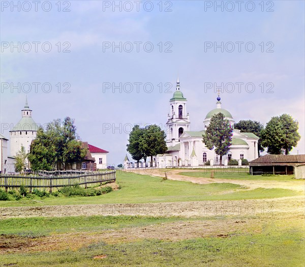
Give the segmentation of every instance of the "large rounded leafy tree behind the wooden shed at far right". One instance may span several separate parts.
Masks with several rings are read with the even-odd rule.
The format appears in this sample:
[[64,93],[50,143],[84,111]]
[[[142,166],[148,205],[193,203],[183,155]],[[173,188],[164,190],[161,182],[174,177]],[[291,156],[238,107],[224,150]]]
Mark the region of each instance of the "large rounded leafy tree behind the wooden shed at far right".
[[269,154],[288,155],[300,140],[298,122],[289,114],[272,117],[261,133],[262,145]]

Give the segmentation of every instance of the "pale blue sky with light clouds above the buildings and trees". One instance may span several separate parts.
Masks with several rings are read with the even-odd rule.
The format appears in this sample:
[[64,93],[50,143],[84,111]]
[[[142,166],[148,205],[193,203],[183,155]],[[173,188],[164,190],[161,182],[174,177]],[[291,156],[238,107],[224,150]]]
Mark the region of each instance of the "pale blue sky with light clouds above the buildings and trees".
[[[174,92],[179,73],[181,91],[188,99],[191,129],[201,130],[202,121],[215,108],[217,97],[213,90],[205,92],[206,82],[252,82],[255,84],[252,94],[245,87],[238,93],[237,85],[235,92],[224,92],[223,107],[236,122],[250,119],[266,124],[271,116],[291,114],[299,121],[302,136],[292,154],[297,150],[304,154],[304,1],[273,1],[273,12],[262,12],[260,2],[255,2],[253,12],[247,11],[245,5],[238,12],[235,1],[232,12],[226,9],[222,12],[220,8],[214,11],[213,7],[205,11],[205,6],[214,1],[164,1],[163,10],[171,3],[171,12],[160,12],[159,1],[153,2],[151,12],[144,10],[144,2],[137,12],[133,1],[132,12],[124,8],[122,12],[118,8],[114,12],[111,8],[103,11],[102,1],[70,1],[70,12],[58,12],[57,1],[51,2],[49,12],[41,6],[37,12],[34,6],[28,12],[22,7],[20,12],[16,8],[12,12],[11,7],[5,8],[2,3],[2,89],[7,83],[49,82],[50,93],[44,93],[40,86],[35,93],[32,85],[27,94],[36,123],[45,124],[65,116],[75,118],[81,139],[109,151],[108,163],[117,165],[126,154],[130,125],[165,125],[172,93],[160,93],[158,84],[171,82],[170,91]],[[268,5],[265,1],[264,10]],[[61,8],[65,6],[62,2]],[[21,47],[20,52],[16,48],[11,52],[10,47],[5,48],[7,42],[20,45],[30,42],[32,50],[23,52]],[[33,42],[50,42],[52,49],[43,52],[38,44],[35,52]],[[57,52],[58,42],[61,49],[67,47],[64,42],[69,42],[71,52]],[[151,42],[154,49],[145,52],[140,45],[137,52],[134,44],[130,53],[118,49],[103,52],[103,42]],[[160,42],[163,49],[170,42],[172,52],[160,52]],[[205,51],[205,42],[253,42],[255,49],[247,52],[245,45],[241,45],[238,52],[236,45],[233,52]],[[274,52],[261,52],[262,42],[264,49],[272,42]],[[58,82],[70,83],[70,93],[58,93]],[[152,83],[154,88],[151,93],[145,93],[142,86],[139,93],[136,86],[131,93],[119,93],[118,89],[115,93],[103,92],[103,83],[120,82]],[[273,93],[262,93],[259,87],[262,82],[273,83]],[[24,92],[2,90],[1,133],[5,136],[9,134],[4,125],[19,121],[24,101]],[[111,129],[107,130],[109,126]]]

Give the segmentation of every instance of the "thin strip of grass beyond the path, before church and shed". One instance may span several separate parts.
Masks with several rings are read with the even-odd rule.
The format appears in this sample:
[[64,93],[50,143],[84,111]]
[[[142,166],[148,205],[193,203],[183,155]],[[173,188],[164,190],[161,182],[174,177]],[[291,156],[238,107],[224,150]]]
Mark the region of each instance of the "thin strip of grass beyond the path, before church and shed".
[[[194,172],[179,172],[180,175],[190,177],[211,177],[211,170],[194,171]],[[296,181],[294,175],[250,175],[245,171],[234,171],[227,169],[218,169],[214,171],[214,178],[218,179],[232,179],[232,180],[248,180],[248,181]],[[296,181],[298,182],[298,181]]]

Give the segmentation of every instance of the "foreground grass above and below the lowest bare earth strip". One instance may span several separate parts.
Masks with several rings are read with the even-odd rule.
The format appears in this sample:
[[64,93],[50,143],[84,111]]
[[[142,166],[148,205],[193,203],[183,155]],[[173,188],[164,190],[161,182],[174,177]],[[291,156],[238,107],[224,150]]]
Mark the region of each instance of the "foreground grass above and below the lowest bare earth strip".
[[[244,217],[251,221],[254,217]],[[236,218],[237,220],[240,218]],[[1,266],[283,266],[302,267],[304,263],[304,232],[300,219],[290,218],[273,221],[261,216],[262,229],[251,228],[247,232],[238,229],[227,232],[225,225],[219,233],[228,233],[226,238],[211,234],[206,238],[168,241],[165,239],[141,239],[133,242],[114,243],[100,241],[82,246],[76,250],[63,249],[49,252],[27,252],[0,255]],[[15,233],[32,238],[40,236],[39,225],[45,232],[85,232],[137,227],[174,221],[173,218],[151,217],[69,217],[57,219],[25,218],[4,220],[1,233]],[[196,218],[193,220],[225,220],[225,218]],[[188,221],[191,221],[188,219]],[[225,222],[225,221],[224,221]],[[272,223],[271,223],[272,222]],[[33,224],[36,224],[34,226]],[[57,229],[57,227],[59,227]],[[0,228],[2,229],[2,228]],[[25,231],[25,232],[24,232]],[[1,237],[1,236],[0,236]],[[0,251],[1,252],[1,251]],[[0,253],[1,254],[1,253]],[[95,256],[104,256],[94,259]]]

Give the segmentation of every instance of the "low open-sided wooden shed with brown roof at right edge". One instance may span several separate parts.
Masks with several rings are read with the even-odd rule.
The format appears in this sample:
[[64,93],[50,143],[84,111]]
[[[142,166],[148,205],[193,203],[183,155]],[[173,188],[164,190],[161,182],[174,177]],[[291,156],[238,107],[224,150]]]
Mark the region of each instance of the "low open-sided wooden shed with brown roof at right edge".
[[294,174],[294,167],[305,164],[305,155],[265,155],[249,162],[251,175]]

